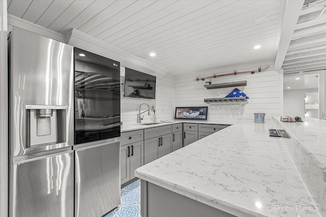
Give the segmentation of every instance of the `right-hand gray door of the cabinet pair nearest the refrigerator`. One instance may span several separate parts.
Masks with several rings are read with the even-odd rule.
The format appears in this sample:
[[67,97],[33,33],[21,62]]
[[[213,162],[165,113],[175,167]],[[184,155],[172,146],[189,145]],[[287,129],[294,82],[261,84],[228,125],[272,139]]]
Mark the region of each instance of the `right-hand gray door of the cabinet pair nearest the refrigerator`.
[[144,141],[130,144],[130,179],[133,179],[134,171],[144,165]]

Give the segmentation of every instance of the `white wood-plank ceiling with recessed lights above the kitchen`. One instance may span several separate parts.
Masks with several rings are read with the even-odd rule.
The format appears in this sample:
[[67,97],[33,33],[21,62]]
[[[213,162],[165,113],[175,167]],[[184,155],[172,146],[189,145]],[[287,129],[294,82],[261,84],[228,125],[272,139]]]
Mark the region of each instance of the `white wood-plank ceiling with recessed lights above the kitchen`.
[[171,73],[275,60],[284,10],[281,0],[8,0],[9,14],[62,34],[78,29]]

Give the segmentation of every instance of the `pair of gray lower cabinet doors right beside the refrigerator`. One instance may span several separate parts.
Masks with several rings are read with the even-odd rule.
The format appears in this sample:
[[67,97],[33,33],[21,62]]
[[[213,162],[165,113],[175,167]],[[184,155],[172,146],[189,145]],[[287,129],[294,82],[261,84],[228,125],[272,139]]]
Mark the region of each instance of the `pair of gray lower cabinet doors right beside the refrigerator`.
[[144,141],[121,146],[120,178],[121,184],[133,179],[134,170],[144,165]]

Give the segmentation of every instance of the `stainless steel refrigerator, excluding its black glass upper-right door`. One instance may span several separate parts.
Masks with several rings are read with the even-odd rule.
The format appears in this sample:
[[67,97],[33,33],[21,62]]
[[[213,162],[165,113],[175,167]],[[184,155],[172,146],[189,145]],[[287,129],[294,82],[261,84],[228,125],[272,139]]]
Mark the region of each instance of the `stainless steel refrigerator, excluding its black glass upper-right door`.
[[8,44],[10,216],[101,216],[115,208],[119,137],[74,146],[73,47],[17,27]]

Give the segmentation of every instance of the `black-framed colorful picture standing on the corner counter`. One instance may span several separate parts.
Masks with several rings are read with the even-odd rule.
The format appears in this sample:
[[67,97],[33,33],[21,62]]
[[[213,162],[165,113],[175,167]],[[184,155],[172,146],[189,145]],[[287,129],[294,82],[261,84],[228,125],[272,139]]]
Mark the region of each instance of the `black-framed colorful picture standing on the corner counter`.
[[207,120],[207,106],[201,107],[176,107],[175,119],[185,120]]

